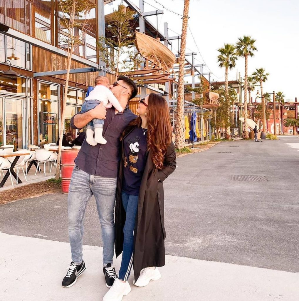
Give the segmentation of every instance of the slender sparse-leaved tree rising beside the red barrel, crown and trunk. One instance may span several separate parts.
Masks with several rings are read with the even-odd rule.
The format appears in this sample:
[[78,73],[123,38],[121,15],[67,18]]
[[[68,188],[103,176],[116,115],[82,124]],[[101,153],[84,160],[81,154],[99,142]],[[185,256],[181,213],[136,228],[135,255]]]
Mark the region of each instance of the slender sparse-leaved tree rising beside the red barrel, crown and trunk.
[[94,7],[95,5],[88,0],[59,0],[59,22],[60,25],[64,28],[63,42],[65,42],[65,44],[67,45],[67,73],[59,132],[56,179],[59,179],[60,177],[60,159],[65,122],[66,99],[69,86],[69,71],[72,64],[72,54],[74,53],[76,47],[79,47],[79,45],[82,43],[86,31],[88,31],[89,26],[91,26],[91,24],[89,23],[88,14],[90,9]]

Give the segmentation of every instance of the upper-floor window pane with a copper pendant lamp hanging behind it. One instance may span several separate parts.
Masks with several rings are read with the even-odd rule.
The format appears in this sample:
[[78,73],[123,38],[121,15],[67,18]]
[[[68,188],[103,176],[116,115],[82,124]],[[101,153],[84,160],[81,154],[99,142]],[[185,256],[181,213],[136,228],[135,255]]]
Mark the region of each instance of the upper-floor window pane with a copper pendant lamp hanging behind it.
[[12,65],[25,68],[25,43],[9,36],[7,39],[7,59]]

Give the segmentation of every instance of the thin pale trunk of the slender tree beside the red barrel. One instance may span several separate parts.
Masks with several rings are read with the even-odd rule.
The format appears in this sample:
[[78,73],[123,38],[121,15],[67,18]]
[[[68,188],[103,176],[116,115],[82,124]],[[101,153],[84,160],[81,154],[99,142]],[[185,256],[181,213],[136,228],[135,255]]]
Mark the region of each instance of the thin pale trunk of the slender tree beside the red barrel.
[[69,56],[67,58],[67,73],[66,73],[66,82],[64,87],[64,96],[63,96],[63,107],[61,113],[61,123],[60,123],[60,132],[59,132],[59,146],[58,146],[58,154],[57,154],[57,167],[56,167],[56,175],[55,179],[58,180],[60,178],[60,160],[61,160],[61,149],[62,149],[62,139],[64,132],[64,121],[65,121],[65,109],[66,109],[66,98],[67,98],[67,90],[69,86],[69,70],[71,69],[72,63],[72,54],[73,54],[74,46],[71,46]]

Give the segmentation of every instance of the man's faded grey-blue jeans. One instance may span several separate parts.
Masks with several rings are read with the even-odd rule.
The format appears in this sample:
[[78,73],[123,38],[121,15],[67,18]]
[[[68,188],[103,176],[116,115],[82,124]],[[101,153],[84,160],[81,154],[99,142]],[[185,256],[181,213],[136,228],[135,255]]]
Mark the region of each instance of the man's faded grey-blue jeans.
[[87,202],[94,195],[102,228],[103,265],[113,263],[116,179],[89,175],[75,166],[68,196],[69,242],[73,262],[82,262],[83,217]]

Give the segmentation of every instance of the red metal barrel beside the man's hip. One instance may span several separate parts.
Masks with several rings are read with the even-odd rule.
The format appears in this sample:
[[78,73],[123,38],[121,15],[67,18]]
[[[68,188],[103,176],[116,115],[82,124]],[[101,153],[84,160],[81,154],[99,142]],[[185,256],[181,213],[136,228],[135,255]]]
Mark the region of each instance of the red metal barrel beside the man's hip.
[[69,183],[79,150],[68,149],[61,151],[61,192],[69,193]]

